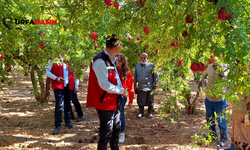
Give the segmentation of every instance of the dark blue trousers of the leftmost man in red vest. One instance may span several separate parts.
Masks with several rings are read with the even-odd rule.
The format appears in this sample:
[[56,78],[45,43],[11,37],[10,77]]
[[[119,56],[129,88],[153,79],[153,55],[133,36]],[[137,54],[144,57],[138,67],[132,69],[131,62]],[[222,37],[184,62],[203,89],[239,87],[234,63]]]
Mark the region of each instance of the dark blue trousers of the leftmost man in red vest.
[[63,90],[54,89],[55,104],[55,126],[60,127],[62,123],[62,111],[64,107],[65,124],[70,123],[70,90],[64,87]]

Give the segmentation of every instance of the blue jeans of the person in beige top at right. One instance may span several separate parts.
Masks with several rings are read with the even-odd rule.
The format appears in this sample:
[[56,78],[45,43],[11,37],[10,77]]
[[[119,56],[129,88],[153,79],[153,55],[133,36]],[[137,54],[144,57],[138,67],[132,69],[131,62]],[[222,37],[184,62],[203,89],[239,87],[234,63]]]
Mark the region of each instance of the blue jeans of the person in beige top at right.
[[205,108],[206,108],[207,123],[211,123],[210,129],[217,136],[215,129],[215,115],[214,115],[214,113],[216,112],[216,114],[219,116],[218,118],[216,118],[216,120],[218,122],[218,126],[220,129],[221,139],[227,139],[226,114],[225,112],[223,112],[226,109],[226,100],[223,99],[222,101],[219,102],[211,102],[206,98]]

